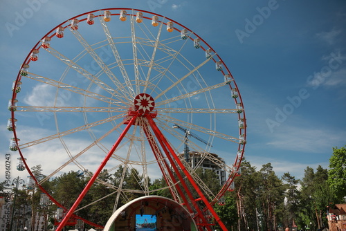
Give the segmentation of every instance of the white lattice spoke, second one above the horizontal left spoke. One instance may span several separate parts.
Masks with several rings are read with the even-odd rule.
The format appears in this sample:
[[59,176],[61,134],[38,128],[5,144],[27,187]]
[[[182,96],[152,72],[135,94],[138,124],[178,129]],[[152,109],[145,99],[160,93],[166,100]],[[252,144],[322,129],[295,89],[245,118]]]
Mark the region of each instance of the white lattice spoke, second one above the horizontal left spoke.
[[73,62],[73,60],[65,57],[57,50],[53,49],[52,47],[50,49],[46,49],[48,53],[56,57],[57,59],[60,59],[60,61],[64,62],[67,66],[72,68],[73,70],[80,73],[80,75],[86,77],[89,81],[93,82],[96,86],[99,86],[104,91],[107,91],[110,95],[112,95],[115,98],[122,98],[123,102],[128,101],[128,98],[126,97],[127,93],[124,91],[124,88],[120,88],[120,92],[115,91],[111,86],[108,86],[106,83],[102,82],[98,77],[95,77],[95,75],[91,75],[89,71],[86,71],[84,68]]

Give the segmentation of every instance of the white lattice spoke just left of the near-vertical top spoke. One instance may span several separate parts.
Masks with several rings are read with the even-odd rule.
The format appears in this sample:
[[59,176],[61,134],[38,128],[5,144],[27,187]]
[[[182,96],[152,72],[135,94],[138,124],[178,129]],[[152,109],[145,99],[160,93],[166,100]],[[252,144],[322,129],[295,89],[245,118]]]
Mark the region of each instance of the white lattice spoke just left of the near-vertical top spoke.
[[118,64],[118,67],[120,69],[122,77],[125,79],[126,86],[129,88],[129,93],[134,98],[134,89],[132,89],[131,82],[129,80],[129,75],[127,75],[126,68],[124,64],[122,63],[122,59],[118,53],[118,49],[116,48],[116,44],[114,43],[113,37],[111,36],[111,32],[109,31],[109,28],[107,26],[107,23],[102,19],[102,17],[99,17],[100,24],[102,26],[102,29],[104,31],[104,35],[107,37],[107,41],[109,43],[109,46],[111,47],[111,51],[116,58],[116,63]]

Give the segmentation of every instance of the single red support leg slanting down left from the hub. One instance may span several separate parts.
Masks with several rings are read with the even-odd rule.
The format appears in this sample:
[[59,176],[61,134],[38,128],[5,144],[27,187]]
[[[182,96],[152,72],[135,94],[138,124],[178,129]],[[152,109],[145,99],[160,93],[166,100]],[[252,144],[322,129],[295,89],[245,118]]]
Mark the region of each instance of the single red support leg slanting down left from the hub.
[[89,182],[86,184],[86,186],[84,187],[84,190],[80,193],[80,196],[78,196],[77,200],[75,201],[75,203],[72,205],[72,207],[70,208],[69,212],[67,212],[67,214],[64,216],[64,219],[62,219],[62,222],[60,223],[60,225],[57,227],[57,231],[62,230],[62,228],[64,228],[64,226],[66,225],[66,222],[69,221],[69,218],[71,217],[71,215],[73,214],[73,212],[75,212],[75,209],[78,207],[78,205],[80,204],[80,202],[82,201],[82,199],[84,198],[86,192],[89,191],[91,185],[93,185],[93,183],[95,182],[96,178],[98,178],[98,175],[100,174],[100,172],[102,171],[102,169],[104,168],[104,166],[107,164],[107,161],[109,160],[109,158],[111,158],[111,155],[113,154],[113,152],[116,150],[116,148],[118,147],[118,145],[120,144],[122,138],[124,138],[124,136],[126,135],[127,131],[129,131],[129,128],[132,126],[132,124],[134,124],[134,122],[136,121],[136,118],[138,116],[138,113],[136,113],[131,120],[129,121],[129,124],[127,124],[127,126],[125,127],[124,131],[122,131],[122,133],[120,134],[118,140],[116,140],[116,142],[114,143],[113,147],[111,148],[111,150],[109,151],[109,153],[107,154],[107,156],[104,158],[104,160],[102,161],[100,167],[98,167],[98,169],[96,170],[96,172],[93,174],[93,176],[91,177],[91,179],[89,180]]

